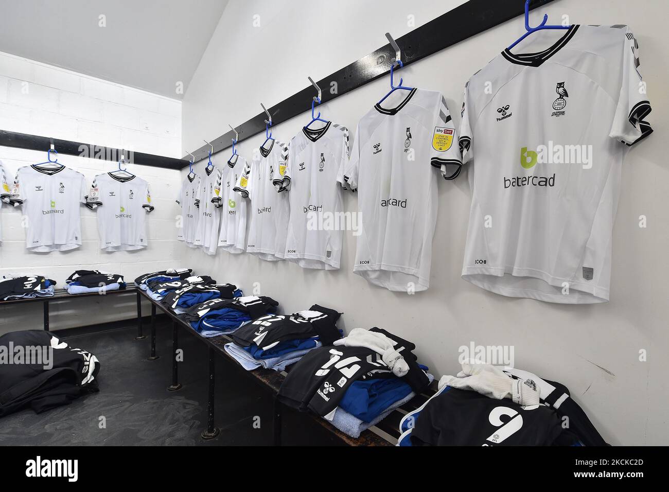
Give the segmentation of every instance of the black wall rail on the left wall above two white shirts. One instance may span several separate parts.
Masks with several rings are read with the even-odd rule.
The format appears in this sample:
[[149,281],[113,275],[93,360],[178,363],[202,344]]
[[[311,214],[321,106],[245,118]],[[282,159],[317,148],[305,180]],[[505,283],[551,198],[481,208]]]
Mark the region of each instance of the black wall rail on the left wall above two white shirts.
[[129,164],[163,167],[165,169],[182,169],[188,165],[188,161],[175,159],[174,157],[124,151],[122,149],[114,149],[113,147],[102,147],[100,145],[0,130],[0,145],[4,147],[16,147],[17,149],[29,149],[31,151],[43,151],[46,153],[52,144],[59,154],[76,155],[78,157],[90,157],[91,159],[118,162],[121,153],[123,153],[126,163]]

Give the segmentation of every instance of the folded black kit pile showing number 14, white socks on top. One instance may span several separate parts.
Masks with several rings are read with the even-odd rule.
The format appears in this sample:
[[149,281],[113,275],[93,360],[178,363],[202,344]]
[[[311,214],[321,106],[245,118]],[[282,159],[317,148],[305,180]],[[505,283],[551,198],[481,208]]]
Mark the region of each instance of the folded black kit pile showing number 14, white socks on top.
[[288,372],[278,399],[359,437],[434,379],[419,365],[414,349],[383,329],[354,329],[304,355]]

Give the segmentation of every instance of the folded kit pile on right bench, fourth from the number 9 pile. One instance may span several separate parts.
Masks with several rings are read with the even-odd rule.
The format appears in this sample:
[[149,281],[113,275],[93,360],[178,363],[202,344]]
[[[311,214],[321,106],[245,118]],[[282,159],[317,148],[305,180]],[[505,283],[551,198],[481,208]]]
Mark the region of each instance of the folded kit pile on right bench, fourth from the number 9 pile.
[[267,296],[218,298],[190,307],[181,317],[197,333],[210,338],[232,333],[254,319],[276,313],[278,305],[277,301]]

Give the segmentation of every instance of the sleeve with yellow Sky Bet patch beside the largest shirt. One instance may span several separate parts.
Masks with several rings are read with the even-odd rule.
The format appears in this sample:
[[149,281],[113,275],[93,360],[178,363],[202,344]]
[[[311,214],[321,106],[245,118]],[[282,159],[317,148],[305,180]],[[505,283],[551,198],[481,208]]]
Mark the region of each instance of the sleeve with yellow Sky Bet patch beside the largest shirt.
[[430,163],[442,171],[445,179],[456,179],[462,169],[462,156],[458,145],[456,127],[441,93],[435,105],[432,125],[432,155]]

